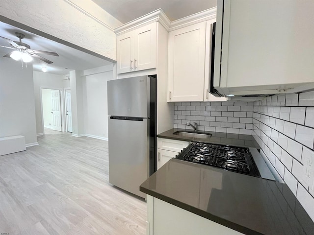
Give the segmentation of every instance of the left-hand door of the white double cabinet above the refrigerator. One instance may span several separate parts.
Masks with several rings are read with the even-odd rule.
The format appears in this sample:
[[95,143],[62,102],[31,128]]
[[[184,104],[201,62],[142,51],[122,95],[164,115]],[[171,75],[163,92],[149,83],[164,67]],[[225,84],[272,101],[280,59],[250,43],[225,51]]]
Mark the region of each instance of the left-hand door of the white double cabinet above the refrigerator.
[[134,37],[126,33],[117,37],[117,73],[131,72],[134,67]]

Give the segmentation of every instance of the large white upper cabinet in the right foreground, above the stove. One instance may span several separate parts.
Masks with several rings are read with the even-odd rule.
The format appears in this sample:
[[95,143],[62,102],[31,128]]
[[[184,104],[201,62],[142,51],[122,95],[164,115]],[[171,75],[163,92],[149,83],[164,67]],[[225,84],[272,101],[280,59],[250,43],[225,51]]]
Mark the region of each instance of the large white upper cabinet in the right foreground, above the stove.
[[217,4],[214,87],[221,94],[314,88],[313,0]]

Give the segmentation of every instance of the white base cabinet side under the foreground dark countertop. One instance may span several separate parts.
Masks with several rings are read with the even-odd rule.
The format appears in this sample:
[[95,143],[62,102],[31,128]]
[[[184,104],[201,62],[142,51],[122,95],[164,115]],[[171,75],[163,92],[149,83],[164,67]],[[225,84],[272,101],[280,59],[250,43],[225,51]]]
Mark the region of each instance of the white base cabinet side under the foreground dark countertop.
[[147,225],[147,235],[242,235],[150,195],[147,195]]

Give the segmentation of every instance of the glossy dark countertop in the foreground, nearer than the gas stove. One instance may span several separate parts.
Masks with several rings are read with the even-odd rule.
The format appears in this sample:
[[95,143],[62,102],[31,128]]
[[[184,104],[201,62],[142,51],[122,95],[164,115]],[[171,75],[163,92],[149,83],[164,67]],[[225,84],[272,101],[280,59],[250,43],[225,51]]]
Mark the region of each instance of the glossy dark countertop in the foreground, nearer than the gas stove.
[[313,235],[286,184],[171,159],[140,191],[246,235]]

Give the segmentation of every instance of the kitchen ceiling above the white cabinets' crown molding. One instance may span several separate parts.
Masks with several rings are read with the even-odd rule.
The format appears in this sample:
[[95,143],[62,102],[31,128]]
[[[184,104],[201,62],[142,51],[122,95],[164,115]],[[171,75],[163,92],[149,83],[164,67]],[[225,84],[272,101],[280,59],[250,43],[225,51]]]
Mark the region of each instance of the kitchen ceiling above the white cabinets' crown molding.
[[106,12],[128,23],[161,8],[170,21],[217,6],[217,0],[93,0]]

